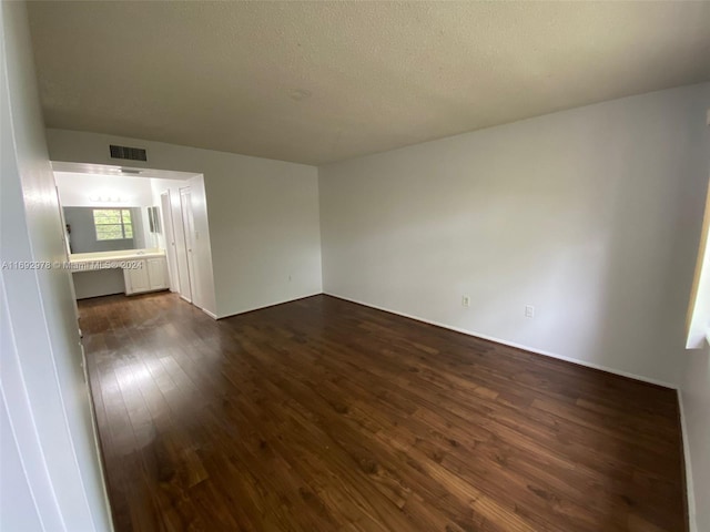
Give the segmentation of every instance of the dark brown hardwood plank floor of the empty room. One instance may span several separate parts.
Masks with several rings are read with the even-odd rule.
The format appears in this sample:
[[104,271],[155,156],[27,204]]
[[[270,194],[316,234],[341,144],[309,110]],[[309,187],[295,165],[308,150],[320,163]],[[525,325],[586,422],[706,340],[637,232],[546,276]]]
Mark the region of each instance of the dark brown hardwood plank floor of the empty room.
[[328,296],[80,313],[119,532],[686,530],[672,390]]

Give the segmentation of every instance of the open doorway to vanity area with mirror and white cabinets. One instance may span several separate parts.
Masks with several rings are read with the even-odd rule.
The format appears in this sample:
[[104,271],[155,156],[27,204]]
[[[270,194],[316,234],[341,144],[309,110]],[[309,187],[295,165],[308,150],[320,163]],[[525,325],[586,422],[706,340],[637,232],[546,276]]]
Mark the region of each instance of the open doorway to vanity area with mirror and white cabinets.
[[[77,244],[101,241],[99,244],[102,245],[122,246],[109,248],[111,250],[72,248],[70,263],[91,258],[91,264],[94,264],[114,256],[123,262],[145,263],[144,266],[151,266],[148,273],[162,280],[149,284],[150,289],[142,291],[170,288],[183,300],[215,318],[212,257],[202,175],[133,167],[129,171],[120,166],[84,163],[54,162],[52,168],[62,209],[71,211],[70,214],[74,211],[80,211],[82,215],[84,212],[92,214],[87,219],[65,219],[64,226],[71,224],[72,244],[77,239]],[[109,211],[113,213],[119,209],[122,216],[121,237],[103,238],[105,232],[97,229],[97,213],[106,214]],[[108,226],[112,229],[110,223],[113,223],[113,218],[102,222],[100,228]],[[118,223],[113,225],[118,227]],[[80,236],[85,238],[82,241]],[[113,260],[111,264],[122,263]],[[121,267],[102,267],[95,272],[78,270],[72,274],[75,298],[139,293],[133,290],[132,284],[129,287],[128,277],[131,276],[126,276],[126,269]]]

